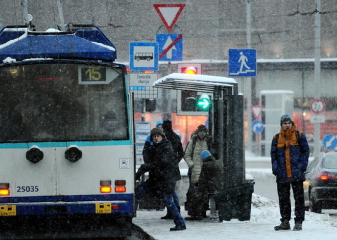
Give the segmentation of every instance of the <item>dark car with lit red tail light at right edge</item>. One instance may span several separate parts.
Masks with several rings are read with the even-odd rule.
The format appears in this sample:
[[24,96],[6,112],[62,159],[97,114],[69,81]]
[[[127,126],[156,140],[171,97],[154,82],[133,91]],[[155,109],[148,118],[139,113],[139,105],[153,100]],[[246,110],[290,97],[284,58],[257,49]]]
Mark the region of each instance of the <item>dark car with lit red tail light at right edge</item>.
[[322,152],[305,172],[304,202],[307,209],[337,209],[337,152]]

